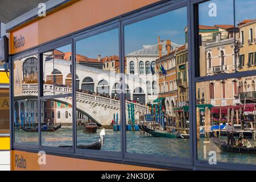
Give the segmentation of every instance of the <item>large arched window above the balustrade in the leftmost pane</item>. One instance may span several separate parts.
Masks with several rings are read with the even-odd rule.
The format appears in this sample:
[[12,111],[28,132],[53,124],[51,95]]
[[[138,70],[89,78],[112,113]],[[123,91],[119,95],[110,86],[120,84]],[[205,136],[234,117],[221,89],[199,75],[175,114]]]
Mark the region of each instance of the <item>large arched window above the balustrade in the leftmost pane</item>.
[[24,81],[35,79],[38,80],[38,59],[30,57],[23,62]]

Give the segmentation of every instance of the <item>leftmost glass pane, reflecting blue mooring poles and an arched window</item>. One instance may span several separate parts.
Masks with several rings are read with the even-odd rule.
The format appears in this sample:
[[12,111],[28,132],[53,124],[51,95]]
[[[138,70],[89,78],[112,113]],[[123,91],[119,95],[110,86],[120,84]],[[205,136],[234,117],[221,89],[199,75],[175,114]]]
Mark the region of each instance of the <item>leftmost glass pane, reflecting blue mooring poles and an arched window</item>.
[[14,61],[14,142],[38,144],[38,56]]

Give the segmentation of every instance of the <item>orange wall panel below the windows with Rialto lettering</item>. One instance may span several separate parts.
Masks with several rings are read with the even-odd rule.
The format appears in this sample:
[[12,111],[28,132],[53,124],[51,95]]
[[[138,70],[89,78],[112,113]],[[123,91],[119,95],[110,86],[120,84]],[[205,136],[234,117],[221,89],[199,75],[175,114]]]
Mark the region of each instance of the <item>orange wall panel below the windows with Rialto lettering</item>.
[[[68,158],[46,154],[46,164],[38,164],[39,155],[33,152],[11,151],[11,170],[90,170],[90,171],[155,171],[150,167],[133,166],[109,162],[99,162],[88,159]],[[40,160],[39,160],[40,161]],[[41,160],[42,161],[42,160]],[[15,164],[16,163],[16,164]]]

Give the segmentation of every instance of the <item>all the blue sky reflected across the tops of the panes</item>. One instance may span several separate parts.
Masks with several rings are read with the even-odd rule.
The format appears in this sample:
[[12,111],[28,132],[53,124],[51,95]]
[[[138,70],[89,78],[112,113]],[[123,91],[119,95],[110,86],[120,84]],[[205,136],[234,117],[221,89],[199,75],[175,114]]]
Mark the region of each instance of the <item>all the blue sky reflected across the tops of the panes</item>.
[[[210,17],[209,3],[216,3],[217,16]],[[245,19],[256,19],[255,0],[236,0],[236,24]],[[213,0],[199,5],[199,23],[213,26],[214,24],[234,24],[233,0]],[[141,49],[143,45],[154,45],[157,37],[171,39],[177,44],[185,43],[184,28],[187,26],[187,7],[162,15],[154,16],[137,23],[125,26],[125,54]],[[68,52],[63,47],[60,51]],[[119,55],[118,29],[80,40],[76,43],[76,53],[90,58],[97,55]]]

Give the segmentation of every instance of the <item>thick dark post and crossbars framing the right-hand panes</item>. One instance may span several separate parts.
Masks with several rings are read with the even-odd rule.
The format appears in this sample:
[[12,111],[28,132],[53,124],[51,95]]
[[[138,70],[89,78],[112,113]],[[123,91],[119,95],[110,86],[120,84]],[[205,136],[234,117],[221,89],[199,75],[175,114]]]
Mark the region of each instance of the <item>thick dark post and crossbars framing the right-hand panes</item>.
[[[203,76],[200,77],[199,69],[197,69],[197,65],[199,65],[199,44],[198,44],[198,26],[199,26],[199,14],[198,14],[198,5],[200,3],[208,2],[205,0],[191,0],[191,5],[189,6],[191,9],[191,97],[192,98],[192,113],[196,113],[196,83],[204,82],[204,81],[213,81],[213,80],[222,80],[228,78],[239,78],[239,77],[247,77],[247,76],[255,76],[255,71],[245,71],[245,72],[234,72],[228,74],[220,74],[213,76]],[[210,1],[209,1],[210,2]],[[236,27],[236,1],[233,0],[233,24]],[[230,7],[232,8],[232,7]],[[194,23],[192,23],[194,22]],[[236,36],[234,36],[234,40],[236,41]],[[235,56],[235,61],[237,61],[237,57]],[[236,63],[236,62],[235,62]],[[256,166],[254,164],[241,164],[241,163],[230,163],[230,162],[217,162],[217,165],[210,165],[207,160],[200,160],[197,158],[197,140],[196,140],[196,114],[192,116],[193,121],[193,161],[195,169],[202,168],[211,168],[211,169],[234,169],[234,170],[255,170]]]

